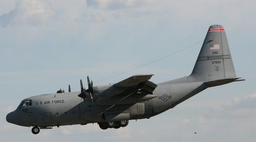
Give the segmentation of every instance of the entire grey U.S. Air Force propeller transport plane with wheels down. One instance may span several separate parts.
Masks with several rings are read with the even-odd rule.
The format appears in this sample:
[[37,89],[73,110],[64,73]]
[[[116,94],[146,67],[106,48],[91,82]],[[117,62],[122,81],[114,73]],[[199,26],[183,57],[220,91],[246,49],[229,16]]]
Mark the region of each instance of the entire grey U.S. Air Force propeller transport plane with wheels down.
[[[208,87],[242,81],[236,77],[226,33],[210,26],[190,76],[154,84],[153,74],[135,75],[116,84],[93,86],[81,92],[43,94],[22,100],[6,116],[10,123],[33,126],[32,133],[53,126],[98,123],[100,128],[120,128],[129,120],[156,116]],[[82,99],[81,99],[82,98]]]

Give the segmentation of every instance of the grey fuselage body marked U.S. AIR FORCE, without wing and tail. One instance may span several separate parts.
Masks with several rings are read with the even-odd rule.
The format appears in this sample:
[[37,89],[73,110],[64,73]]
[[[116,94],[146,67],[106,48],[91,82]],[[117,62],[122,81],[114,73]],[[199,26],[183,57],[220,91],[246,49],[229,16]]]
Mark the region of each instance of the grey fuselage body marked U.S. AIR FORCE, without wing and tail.
[[[84,102],[78,97],[80,92],[43,94],[24,99],[22,102],[32,100],[32,105],[18,106],[11,113],[14,116],[12,118],[14,124],[42,127],[144,119],[173,108],[206,88],[204,82],[175,84],[164,82],[158,84],[153,92],[157,97],[144,102],[119,104],[112,108],[95,102]],[[114,120],[106,120],[102,117],[102,112],[105,116],[116,115],[117,117]]]

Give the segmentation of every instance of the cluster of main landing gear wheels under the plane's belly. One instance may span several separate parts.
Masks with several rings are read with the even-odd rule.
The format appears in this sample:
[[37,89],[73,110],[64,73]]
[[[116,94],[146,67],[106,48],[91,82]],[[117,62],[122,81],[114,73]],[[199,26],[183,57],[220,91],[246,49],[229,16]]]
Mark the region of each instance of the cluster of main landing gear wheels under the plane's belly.
[[122,121],[117,121],[117,122],[102,122],[98,123],[100,128],[103,130],[106,130],[107,128],[115,128],[118,129],[120,127],[125,127],[129,123],[129,120],[122,120]]

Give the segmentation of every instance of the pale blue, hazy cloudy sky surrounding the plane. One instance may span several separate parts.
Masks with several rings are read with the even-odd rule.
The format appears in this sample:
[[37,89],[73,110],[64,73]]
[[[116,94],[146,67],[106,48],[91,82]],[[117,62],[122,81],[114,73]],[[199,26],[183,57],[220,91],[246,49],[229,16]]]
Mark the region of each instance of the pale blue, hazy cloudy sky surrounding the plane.
[[[255,5],[254,0],[0,0],[1,141],[255,141]],[[68,90],[68,84],[79,91],[87,75],[95,86],[135,74],[154,74],[154,83],[188,76],[213,24],[224,26],[236,75],[246,81],[208,88],[120,129],[73,125],[34,135],[31,128],[6,122],[24,98]]]

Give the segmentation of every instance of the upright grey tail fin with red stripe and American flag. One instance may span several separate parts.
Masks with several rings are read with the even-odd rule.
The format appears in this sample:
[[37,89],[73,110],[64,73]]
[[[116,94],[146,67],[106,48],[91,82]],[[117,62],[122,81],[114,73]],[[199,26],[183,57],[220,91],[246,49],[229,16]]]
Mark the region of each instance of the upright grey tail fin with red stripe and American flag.
[[223,26],[210,26],[190,77],[194,81],[236,78]]

